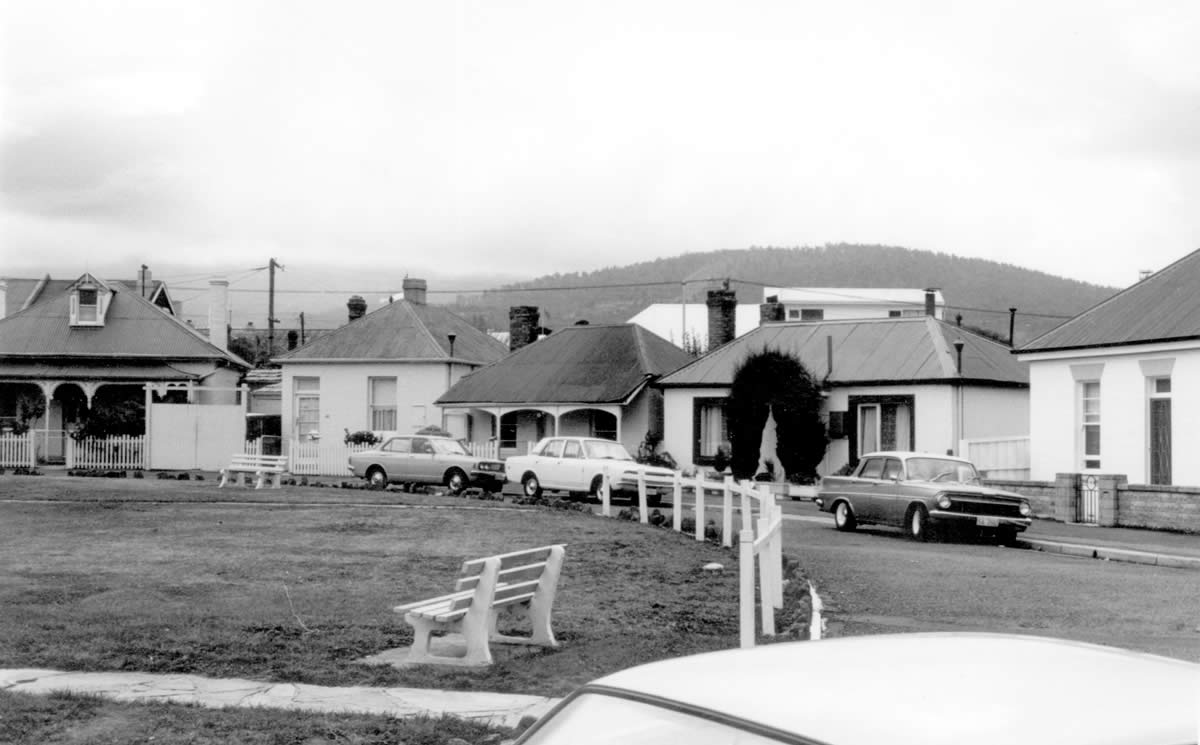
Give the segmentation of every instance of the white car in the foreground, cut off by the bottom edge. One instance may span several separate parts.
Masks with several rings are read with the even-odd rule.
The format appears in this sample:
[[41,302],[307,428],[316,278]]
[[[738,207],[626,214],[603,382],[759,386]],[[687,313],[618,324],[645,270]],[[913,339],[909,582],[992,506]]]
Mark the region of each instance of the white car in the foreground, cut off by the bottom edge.
[[1200,665],[995,633],[786,642],[678,657],[571,693],[522,745],[1182,745]]

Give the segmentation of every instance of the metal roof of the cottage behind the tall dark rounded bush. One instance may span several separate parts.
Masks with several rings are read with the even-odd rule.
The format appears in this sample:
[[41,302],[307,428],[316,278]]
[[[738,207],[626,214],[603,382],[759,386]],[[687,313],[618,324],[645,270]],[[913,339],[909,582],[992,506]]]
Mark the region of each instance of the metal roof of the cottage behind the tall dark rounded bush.
[[[964,342],[961,378],[956,372],[955,340]],[[750,354],[763,349],[796,356],[827,385],[965,380],[983,385],[1025,386],[1030,379],[1025,365],[1018,362],[1004,344],[923,316],[764,324],[662,378],[658,385],[732,385],[737,366]]]

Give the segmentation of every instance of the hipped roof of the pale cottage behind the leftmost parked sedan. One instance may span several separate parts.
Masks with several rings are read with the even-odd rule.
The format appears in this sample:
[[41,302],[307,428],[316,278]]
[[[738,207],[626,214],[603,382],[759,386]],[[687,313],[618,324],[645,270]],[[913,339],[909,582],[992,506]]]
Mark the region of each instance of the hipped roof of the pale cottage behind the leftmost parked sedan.
[[275,358],[277,362],[450,360],[487,365],[508,347],[446,308],[396,300],[362,318]]

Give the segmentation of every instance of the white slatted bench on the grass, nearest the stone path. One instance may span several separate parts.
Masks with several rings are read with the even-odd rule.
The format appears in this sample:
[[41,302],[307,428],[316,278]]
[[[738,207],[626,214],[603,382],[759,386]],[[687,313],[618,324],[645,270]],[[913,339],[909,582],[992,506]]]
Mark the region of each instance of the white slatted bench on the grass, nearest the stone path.
[[[394,611],[413,626],[407,662],[476,667],[492,663],[490,642],[558,647],[550,612],[564,555],[565,546],[557,545],[470,559],[463,563],[454,593],[396,606]],[[497,631],[502,613],[527,619],[529,636]],[[434,632],[461,633],[464,648],[433,654]]]

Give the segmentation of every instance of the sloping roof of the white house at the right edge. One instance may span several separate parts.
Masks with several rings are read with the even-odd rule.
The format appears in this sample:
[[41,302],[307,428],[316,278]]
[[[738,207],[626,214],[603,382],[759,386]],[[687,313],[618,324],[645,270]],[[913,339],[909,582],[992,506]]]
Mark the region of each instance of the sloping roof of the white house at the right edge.
[[1200,338],[1200,251],[1150,275],[1016,350],[1018,354]]

